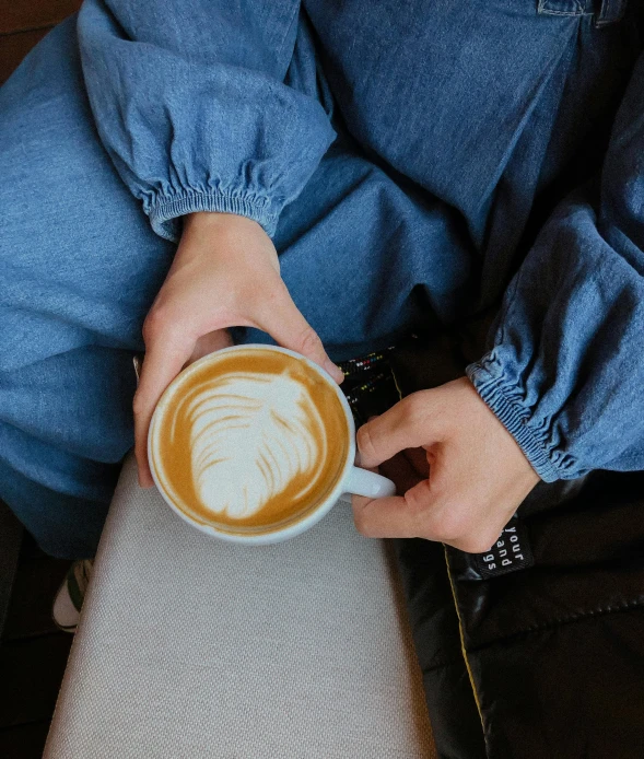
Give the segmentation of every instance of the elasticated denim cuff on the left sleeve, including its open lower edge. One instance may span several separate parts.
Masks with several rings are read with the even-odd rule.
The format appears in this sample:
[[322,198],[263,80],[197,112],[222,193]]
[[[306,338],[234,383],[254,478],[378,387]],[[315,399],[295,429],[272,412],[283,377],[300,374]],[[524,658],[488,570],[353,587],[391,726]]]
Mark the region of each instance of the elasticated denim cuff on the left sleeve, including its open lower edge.
[[232,192],[186,192],[173,198],[160,198],[147,210],[153,231],[174,243],[182,236],[180,218],[197,211],[237,213],[254,219],[269,237],[274,234],[279,218],[269,198]]

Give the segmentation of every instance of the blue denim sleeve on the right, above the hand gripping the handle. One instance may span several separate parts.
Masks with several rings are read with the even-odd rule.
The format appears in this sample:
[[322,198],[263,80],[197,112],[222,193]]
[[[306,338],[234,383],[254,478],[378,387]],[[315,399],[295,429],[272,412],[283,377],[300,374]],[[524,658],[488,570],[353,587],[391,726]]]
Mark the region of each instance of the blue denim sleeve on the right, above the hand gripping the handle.
[[644,58],[600,179],[554,212],[468,375],[547,482],[644,469]]

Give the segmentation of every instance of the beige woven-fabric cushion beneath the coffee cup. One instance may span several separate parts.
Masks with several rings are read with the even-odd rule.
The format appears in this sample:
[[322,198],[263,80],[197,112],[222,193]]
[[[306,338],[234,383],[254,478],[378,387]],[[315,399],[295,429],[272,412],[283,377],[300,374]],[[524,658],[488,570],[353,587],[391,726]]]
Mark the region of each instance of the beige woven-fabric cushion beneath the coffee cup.
[[124,468],[46,759],[435,757],[387,546],[233,546]]

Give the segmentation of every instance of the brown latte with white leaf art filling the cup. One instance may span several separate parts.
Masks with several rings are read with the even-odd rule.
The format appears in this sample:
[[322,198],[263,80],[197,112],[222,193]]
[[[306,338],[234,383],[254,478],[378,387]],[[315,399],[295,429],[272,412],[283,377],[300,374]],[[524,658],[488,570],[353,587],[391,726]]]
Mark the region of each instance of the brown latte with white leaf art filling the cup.
[[343,475],[350,439],[329,382],[261,347],[213,353],[179,375],[151,435],[151,466],[176,507],[239,535],[315,511]]

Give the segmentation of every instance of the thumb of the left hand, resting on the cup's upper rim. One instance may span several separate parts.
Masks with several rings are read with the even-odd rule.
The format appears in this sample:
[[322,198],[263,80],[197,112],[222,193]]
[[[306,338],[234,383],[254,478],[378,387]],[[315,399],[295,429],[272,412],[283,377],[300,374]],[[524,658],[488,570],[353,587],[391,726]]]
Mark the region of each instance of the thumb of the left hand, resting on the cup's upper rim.
[[329,359],[317,332],[302,316],[281,281],[279,291],[262,302],[257,320],[257,326],[267,331],[280,346],[311,359],[338,384],[344,380],[342,371]]

